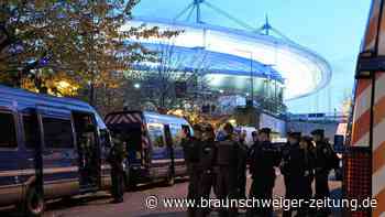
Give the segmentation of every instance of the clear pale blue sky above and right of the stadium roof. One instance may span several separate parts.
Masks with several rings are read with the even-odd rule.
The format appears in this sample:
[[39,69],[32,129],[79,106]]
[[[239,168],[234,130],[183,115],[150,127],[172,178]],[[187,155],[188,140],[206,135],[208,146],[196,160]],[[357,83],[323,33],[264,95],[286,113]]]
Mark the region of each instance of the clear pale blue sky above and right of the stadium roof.
[[[134,15],[174,18],[193,0],[141,0]],[[371,0],[206,0],[233,17],[261,26],[265,14],[271,24],[295,42],[323,56],[332,67],[328,87],[309,97],[288,101],[292,112],[340,110],[352,93],[356,55],[367,20]],[[237,23],[202,7],[202,20],[239,28]]]

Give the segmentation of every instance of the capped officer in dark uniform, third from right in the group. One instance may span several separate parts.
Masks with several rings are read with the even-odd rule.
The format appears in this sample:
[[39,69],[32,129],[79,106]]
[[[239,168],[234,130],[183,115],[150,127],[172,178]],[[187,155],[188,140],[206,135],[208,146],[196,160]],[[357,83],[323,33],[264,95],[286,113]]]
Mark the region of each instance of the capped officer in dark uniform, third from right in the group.
[[[306,184],[305,151],[300,149],[300,132],[290,132],[288,134],[289,151],[284,155],[280,165],[282,173],[285,176],[285,198],[301,199],[305,196],[304,186]],[[296,207],[299,208],[299,207]],[[284,210],[284,217],[290,217],[292,210]],[[302,215],[298,209],[299,215]]]

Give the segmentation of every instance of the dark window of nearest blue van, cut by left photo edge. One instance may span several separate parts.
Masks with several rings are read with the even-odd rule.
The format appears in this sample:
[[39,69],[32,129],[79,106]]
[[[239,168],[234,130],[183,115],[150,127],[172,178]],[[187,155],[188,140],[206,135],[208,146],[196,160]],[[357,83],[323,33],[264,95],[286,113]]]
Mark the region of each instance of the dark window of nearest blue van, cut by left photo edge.
[[16,148],[16,131],[13,115],[0,111],[0,148]]

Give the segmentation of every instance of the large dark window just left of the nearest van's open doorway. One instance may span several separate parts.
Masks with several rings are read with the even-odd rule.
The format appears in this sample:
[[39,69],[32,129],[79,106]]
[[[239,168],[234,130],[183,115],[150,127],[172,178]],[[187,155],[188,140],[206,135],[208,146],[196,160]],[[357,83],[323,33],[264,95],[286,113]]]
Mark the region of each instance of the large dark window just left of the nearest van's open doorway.
[[43,118],[44,143],[46,148],[74,148],[73,128],[70,120]]

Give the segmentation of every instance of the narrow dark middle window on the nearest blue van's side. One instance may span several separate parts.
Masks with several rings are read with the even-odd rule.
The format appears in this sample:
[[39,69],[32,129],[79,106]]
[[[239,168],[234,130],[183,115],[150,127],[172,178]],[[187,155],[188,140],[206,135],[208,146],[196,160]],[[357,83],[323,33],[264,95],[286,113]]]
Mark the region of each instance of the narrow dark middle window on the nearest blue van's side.
[[32,149],[38,142],[38,122],[37,117],[23,115],[24,143],[25,148]]

